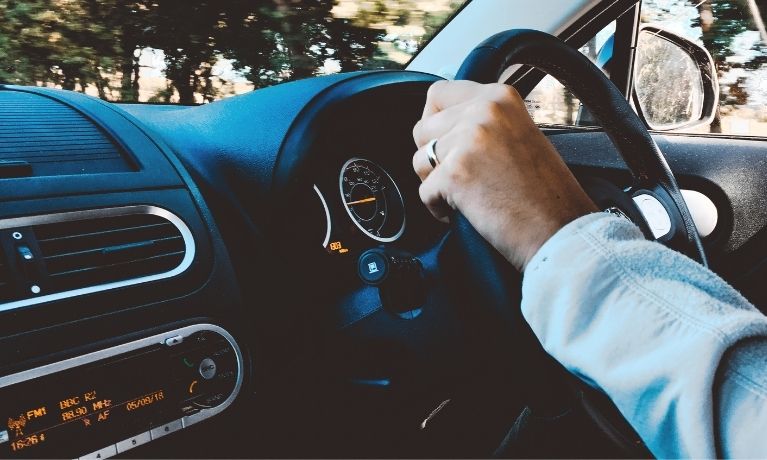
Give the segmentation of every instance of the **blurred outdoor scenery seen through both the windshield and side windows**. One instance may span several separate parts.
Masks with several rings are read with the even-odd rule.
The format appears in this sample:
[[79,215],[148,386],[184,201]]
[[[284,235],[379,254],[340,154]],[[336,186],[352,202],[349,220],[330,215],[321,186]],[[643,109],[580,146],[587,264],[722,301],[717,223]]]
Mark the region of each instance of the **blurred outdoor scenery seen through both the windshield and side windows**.
[[[0,0],[0,82],[108,101],[210,102],[315,75],[403,68],[465,1]],[[767,136],[765,11],[767,0],[643,1],[643,23],[703,45],[716,62],[720,108],[692,131]],[[595,58],[614,31],[582,52]],[[579,102],[546,78],[528,108],[539,123],[574,125]]]

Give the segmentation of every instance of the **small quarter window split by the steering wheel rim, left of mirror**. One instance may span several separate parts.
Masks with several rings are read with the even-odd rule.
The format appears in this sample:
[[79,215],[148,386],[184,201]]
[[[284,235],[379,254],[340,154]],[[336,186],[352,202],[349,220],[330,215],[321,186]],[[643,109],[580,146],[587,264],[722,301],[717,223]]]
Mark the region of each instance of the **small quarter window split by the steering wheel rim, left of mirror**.
[[[581,53],[599,64],[612,54],[611,39],[615,33],[613,21],[581,48]],[[538,124],[588,126],[591,117],[581,111],[580,101],[561,83],[546,76],[525,99],[527,110]],[[585,116],[584,116],[585,115]]]

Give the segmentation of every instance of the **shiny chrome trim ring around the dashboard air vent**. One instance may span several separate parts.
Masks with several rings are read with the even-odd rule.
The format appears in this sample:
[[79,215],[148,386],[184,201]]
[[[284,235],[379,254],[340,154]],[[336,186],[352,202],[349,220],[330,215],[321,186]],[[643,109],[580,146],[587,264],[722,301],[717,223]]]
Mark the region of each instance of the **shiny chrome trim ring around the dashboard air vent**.
[[162,217],[172,223],[181,233],[184,240],[185,254],[181,263],[174,269],[148,276],[142,276],[139,278],[132,278],[121,281],[114,281],[104,284],[98,284],[95,286],[87,286],[79,289],[73,289],[69,291],[56,292],[53,294],[40,295],[29,299],[15,300],[7,303],[0,303],[0,312],[14,310],[16,308],[28,307],[30,305],[37,305],[45,302],[53,302],[56,300],[68,299],[71,297],[77,297],[81,295],[93,294],[96,292],[108,291],[110,289],[117,289],[126,286],[133,286],[136,284],[148,283],[151,281],[162,280],[166,278],[172,278],[185,272],[194,261],[195,257],[195,244],[194,237],[191,230],[184,223],[181,218],[168,211],[157,206],[123,206],[118,208],[105,208],[105,209],[91,209],[85,211],[73,211],[57,214],[44,214],[38,216],[25,216],[14,217],[10,219],[0,220],[0,230],[7,230],[19,227],[34,227],[36,225],[55,224],[59,222],[72,222],[78,220],[88,219],[100,219],[108,217],[126,216],[132,214],[151,214],[158,217]]

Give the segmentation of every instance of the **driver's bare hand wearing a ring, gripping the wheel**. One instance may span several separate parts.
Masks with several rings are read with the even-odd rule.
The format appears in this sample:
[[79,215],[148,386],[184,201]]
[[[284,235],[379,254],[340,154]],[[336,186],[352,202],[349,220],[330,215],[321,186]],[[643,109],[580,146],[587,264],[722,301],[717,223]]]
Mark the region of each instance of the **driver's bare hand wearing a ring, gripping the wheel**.
[[520,271],[557,230],[597,210],[511,86],[435,83],[413,137],[431,213],[444,221],[460,209]]

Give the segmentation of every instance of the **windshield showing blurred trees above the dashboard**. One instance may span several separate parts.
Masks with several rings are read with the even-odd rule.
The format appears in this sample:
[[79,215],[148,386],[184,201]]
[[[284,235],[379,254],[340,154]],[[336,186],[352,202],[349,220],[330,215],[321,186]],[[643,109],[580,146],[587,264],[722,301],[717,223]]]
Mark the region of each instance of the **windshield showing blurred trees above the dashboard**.
[[195,104],[399,69],[467,0],[3,0],[0,82]]

